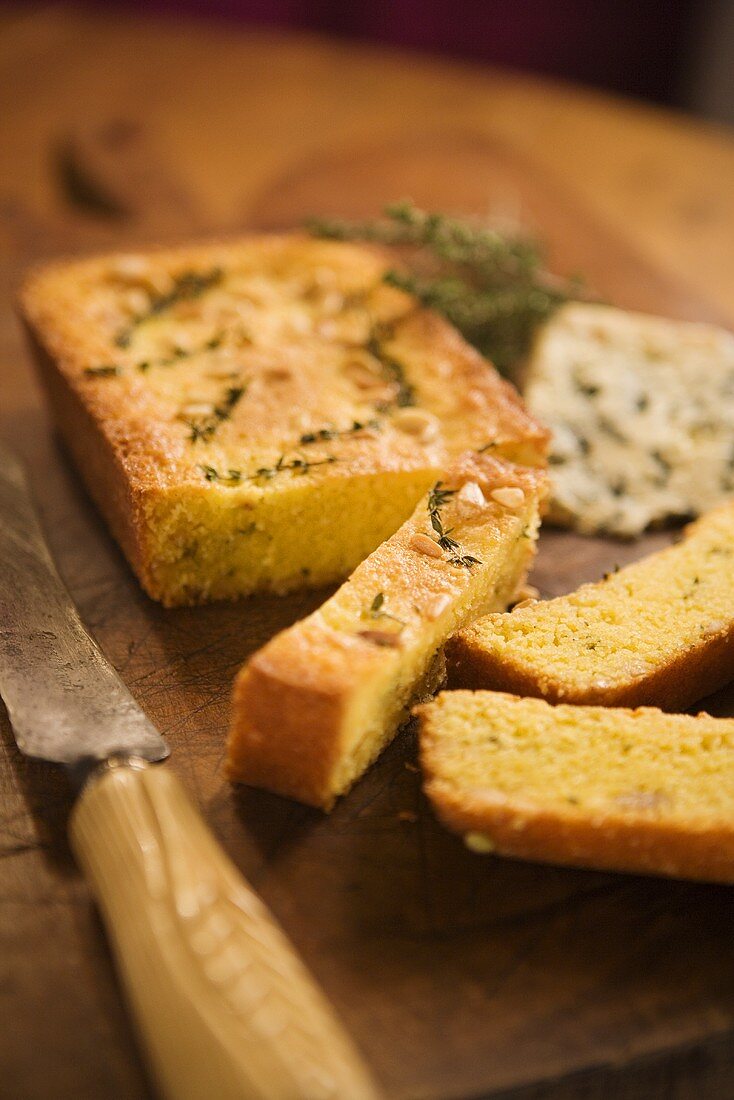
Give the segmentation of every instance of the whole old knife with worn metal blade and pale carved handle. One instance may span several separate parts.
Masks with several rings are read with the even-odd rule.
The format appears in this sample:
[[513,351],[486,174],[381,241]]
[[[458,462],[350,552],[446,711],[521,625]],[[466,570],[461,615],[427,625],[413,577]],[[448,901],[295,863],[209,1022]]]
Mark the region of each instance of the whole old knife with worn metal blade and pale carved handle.
[[160,761],[168,747],[66,591],[0,447],[0,693],[18,747],[80,784],[69,840],[171,1100],[377,1100],[324,993]]

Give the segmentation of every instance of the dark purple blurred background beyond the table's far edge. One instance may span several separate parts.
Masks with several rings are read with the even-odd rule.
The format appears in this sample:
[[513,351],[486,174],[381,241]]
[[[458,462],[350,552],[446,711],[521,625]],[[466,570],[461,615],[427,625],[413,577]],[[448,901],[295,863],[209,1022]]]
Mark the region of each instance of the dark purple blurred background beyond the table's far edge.
[[732,0],[117,0],[116,7],[416,47],[734,123]]

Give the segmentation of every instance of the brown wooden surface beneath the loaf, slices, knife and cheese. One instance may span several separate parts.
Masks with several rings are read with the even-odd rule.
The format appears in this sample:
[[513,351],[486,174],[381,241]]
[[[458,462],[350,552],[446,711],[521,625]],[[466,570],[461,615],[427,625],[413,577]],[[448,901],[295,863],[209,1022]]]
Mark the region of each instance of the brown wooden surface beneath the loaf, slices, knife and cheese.
[[[20,272],[59,252],[412,194],[529,219],[611,300],[732,323],[731,136],[383,48],[47,7],[0,14],[0,435],[29,462],[86,622],[387,1094],[734,1096],[731,890],[472,856],[425,805],[409,735],[330,818],[222,780],[234,669],[322,594],[151,604],[57,448],[11,306]],[[538,581],[560,592],[643,549],[544,536]],[[731,694],[711,706],[734,713]],[[0,1092],[138,1100],[65,781],[0,725]]]

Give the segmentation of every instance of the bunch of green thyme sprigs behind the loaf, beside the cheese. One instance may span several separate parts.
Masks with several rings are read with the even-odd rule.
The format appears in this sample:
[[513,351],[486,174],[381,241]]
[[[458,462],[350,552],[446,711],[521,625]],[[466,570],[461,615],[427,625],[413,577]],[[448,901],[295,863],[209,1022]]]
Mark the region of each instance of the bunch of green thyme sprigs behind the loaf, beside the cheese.
[[512,373],[536,328],[565,301],[581,295],[579,279],[544,267],[537,242],[471,221],[393,204],[377,221],[311,218],[316,237],[399,245],[406,266],[385,282],[443,314],[495,366]]

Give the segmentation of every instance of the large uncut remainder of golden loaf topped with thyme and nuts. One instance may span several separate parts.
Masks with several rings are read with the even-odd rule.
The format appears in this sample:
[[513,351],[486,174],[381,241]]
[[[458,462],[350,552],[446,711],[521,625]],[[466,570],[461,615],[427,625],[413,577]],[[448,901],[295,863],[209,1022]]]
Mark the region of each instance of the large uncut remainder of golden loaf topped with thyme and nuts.
[[283,235],[29,278],[59,429],[151,596],[341,580],[462,450],[545,461],[517,393],[387,263]]

